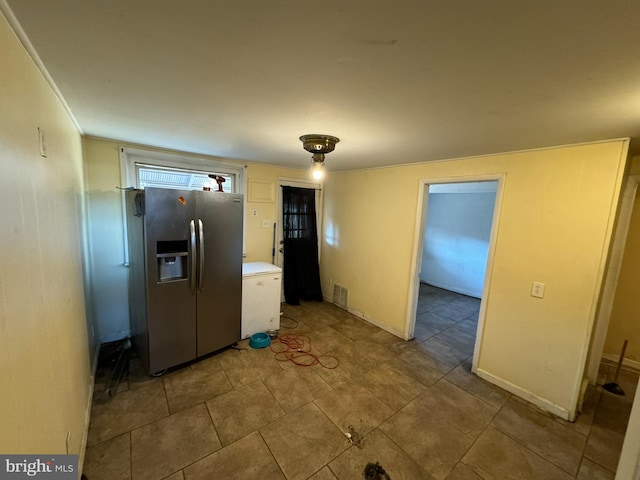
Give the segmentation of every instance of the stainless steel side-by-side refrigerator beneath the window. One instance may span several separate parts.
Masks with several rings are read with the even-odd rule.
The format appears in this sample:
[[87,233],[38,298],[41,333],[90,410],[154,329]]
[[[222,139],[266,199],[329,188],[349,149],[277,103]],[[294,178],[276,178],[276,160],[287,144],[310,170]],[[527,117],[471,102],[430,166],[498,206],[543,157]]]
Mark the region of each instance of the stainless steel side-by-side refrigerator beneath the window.
[[240,194],[126,192],[132,340],[147,372],[240,339]]

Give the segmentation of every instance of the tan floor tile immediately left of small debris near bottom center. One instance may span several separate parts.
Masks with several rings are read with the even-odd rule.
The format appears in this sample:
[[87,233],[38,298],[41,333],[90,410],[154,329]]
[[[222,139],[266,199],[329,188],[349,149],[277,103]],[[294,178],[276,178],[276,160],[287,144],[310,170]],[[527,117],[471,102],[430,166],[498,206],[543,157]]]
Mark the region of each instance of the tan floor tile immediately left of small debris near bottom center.
[[349,447],[347,437],[313,403],[260,433],[288,480],[308,478]]

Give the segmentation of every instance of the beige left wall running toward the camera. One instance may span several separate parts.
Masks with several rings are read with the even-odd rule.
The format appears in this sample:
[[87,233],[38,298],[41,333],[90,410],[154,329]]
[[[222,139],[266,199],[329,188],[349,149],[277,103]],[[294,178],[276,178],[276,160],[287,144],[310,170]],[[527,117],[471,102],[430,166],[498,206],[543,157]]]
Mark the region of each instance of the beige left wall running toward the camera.
[[91,382],[80,135],[1,14],[0,45],[0,452],[62,454],[68,438],[77,454]]

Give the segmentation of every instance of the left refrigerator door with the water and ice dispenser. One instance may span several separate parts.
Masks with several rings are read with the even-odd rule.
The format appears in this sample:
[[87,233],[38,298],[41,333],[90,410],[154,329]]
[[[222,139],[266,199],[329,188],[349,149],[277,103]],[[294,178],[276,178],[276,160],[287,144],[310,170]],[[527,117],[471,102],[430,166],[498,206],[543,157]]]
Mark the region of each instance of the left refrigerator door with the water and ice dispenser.
[[[155,373],[196,357],[196,302],[189,288],[194,274],[189,223],[195,216],[192,191],[145,190],[149,372]],[[182,278],[163,281],[160,262],[171,250],[185,250]],[[182,252],[184,253],[184,252]],[[177,260],[175,260],[177,261]]]

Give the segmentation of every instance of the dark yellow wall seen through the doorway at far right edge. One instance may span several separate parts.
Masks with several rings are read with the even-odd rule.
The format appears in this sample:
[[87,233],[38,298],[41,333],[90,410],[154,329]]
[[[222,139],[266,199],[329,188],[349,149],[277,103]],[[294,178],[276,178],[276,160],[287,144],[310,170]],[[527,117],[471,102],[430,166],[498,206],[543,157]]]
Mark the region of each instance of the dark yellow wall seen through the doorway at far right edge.
[[624,248],[620,275],[616,287],[604,355],[618,359],[624,340],[628,340],[625,358],[640,367],[640,189],[631,214],[631,223]]

